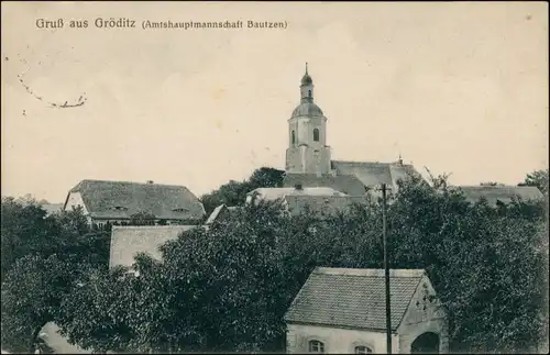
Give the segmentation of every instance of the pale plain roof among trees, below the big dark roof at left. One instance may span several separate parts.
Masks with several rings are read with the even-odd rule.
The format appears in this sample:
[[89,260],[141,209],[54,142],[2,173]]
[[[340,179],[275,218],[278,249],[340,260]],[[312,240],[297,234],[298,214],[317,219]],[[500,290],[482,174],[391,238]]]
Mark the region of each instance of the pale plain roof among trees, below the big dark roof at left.
[[197,225],[144,225],[119,226],[111,231],[109,267],[132,266],[138,253],[147,253],[156,259],[162,257],[158,247],[178,237]]

